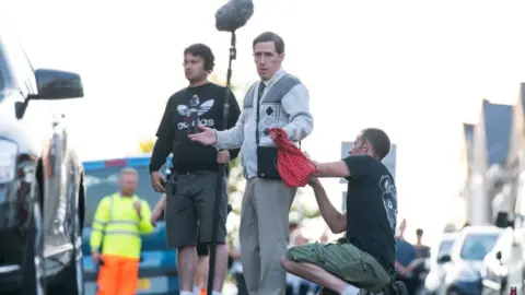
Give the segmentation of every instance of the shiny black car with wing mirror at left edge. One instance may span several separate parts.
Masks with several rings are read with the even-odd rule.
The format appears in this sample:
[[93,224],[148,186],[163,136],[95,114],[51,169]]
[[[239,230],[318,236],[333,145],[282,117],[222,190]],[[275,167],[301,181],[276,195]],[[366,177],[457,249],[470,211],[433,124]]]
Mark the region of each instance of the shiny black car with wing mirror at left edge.
[[83,294],[82,165],[61,118],[31,106],[83,95],[78,74],[34,70],[0,35],[0,294]]

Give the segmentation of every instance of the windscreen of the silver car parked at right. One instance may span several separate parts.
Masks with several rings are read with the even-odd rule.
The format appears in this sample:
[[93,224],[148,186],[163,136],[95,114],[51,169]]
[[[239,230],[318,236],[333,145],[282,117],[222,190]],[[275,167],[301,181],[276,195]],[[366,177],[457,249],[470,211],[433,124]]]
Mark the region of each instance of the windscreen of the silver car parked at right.
[[495,233],[467,235],[462,245],[459,258],[464,260],[483,260],[485,256],[494,247],[499,236]]

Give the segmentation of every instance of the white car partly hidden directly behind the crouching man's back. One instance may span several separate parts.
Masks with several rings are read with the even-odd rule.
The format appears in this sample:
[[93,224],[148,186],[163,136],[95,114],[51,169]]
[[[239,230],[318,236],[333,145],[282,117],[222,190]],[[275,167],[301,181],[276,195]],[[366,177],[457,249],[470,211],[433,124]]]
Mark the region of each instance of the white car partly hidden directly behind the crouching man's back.
[[451,255],[452,245],[457,234],[445,233],[441,240],[430,248],[430,258],[425,261],[425,268],[429,270],[424,279],[423,294],[435,295],[441,284],[445,280],[445,266],[440,259],[444,255]]

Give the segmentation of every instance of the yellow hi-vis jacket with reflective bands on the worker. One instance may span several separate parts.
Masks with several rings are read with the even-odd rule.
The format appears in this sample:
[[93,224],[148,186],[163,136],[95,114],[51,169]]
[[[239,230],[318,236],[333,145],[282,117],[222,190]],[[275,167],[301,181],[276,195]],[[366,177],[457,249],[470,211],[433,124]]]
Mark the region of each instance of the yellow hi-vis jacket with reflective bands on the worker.
[[98,251],[102,244],[103,255],[140,258],[140,235],[153,232],[153,225],[150,222],[150,206],[142,200],[139,219],[133,205],[138,200],[137,196],[121,197],[119,192],[102,199],[93,219],[90,238],[92,251]]

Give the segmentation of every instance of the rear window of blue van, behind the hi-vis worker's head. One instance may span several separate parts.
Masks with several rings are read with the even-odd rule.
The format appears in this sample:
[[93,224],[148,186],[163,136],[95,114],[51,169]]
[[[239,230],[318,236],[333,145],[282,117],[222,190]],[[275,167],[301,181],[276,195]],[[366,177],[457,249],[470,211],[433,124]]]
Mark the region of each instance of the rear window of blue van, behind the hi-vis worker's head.
[[[150,208],[161,199],[161,194],[155,192],[150,184],[150,172],[148,166],[135,167],[139,173],[139,182],[137,196],[147,201]],[[85,198],[85,219],[84,226],[91,226],[93,215],[95,214],[98,202],[106,196],[118,191],[118,178],[121,167],[107,167],[104,169],[86,170],[84,185],[86,188]]]

